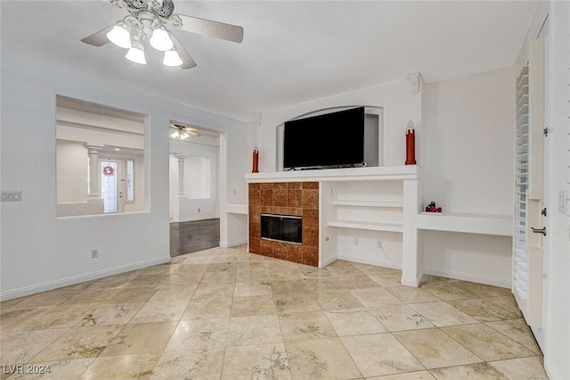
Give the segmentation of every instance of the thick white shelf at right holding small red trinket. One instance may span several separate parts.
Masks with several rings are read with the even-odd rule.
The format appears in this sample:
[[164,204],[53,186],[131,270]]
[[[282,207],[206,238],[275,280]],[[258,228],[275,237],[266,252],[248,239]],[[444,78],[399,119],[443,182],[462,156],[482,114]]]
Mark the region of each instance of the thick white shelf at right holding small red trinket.
[[513,235],[513,218],[510,215],[446,212],[429,215],[420,213],[416,224],[419,229],[463,232],[483,235]]

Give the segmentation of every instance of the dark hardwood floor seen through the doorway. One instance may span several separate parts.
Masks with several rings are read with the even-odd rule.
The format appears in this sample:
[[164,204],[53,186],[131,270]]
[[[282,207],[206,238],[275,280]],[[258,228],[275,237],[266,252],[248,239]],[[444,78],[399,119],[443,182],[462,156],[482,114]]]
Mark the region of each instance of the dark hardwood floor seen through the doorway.
[[220,244],[220,219],[170,223],[170,256],[207,250]]

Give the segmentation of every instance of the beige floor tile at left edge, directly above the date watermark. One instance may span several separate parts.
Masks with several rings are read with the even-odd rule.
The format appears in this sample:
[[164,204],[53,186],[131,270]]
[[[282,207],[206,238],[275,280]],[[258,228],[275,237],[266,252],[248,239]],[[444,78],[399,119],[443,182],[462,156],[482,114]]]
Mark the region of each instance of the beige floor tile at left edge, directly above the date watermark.
[[15,331],[0,339],[0,363],[24,364],[53,343],[67,328]]

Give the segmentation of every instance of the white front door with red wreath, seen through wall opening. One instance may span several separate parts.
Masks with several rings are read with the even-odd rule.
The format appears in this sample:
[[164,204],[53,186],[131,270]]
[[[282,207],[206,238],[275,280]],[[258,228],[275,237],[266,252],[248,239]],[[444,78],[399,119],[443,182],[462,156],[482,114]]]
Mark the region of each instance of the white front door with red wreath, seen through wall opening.
[[101,160],[101,194],[104,212],[123,212],[122,160]]

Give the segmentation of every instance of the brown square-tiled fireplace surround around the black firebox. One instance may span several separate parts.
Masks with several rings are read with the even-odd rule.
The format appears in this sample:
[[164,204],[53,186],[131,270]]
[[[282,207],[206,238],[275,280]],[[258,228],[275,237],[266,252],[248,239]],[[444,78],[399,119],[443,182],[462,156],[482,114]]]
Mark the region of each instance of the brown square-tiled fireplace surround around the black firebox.
[[[249,184],[249,252],[319,265],[319,183]],[[261,237],[261,214],[302,219],[301,244]]]

